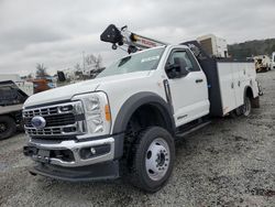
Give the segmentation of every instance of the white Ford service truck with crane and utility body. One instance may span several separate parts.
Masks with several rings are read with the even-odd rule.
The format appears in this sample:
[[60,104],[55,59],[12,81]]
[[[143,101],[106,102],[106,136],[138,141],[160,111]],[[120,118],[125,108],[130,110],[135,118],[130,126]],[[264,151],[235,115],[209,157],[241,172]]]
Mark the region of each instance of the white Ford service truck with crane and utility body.
[[[95,79],[30,97],[24,154],[33,175],[65,181],[124,177],[156,192],[175,162],[175,139],[212,117],[258,107],[253,62],[210,58],[198,42],[170,45],[109,25],[100,36],[129,55]],[[184,162],[184,161],[183,161]]]

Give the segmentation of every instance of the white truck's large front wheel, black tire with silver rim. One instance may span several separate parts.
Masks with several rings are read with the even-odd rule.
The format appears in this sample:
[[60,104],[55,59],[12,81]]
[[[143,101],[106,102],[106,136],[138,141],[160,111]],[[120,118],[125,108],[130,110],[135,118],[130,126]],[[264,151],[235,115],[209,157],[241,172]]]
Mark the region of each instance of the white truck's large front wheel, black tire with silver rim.
[[[168,148],[165,150],[162,149],[162,144],[157,146],[157,142],[161,142]],[[166,143],[166,144],[165,144]],[[156,156],[152,155],[150,149],[153,144],[154,148],[154,155],[160,157],[160,162],[155,159]],[[154,145],[155,144],[155,145]],[[155,150],[157,149],[157,150]],[[151,152],[151,156],[148,154]],[[156,153],[157,152],[157,153]],[[160,155],[160,156],[158,156]],[[151,168],[147,171],[147,162],[151,160],[151,163],[156,164],[156,172],[153,172]],[[152,162],[155,161],[155,162]],[[135,186],[141,188],[142,190],[154,193],[161,189],[168,181],[175,161],[175,144],[174,139],[165,129],[160,127],[150,127],[138,135],[135,143],[133,144],[132,149],[132,157],[131,157],[131,166],[130,166],[130,182]],[[161,165],[162,164],[162,165]],[[165,170],[164,170],[165,168]],[[158,170],[162,172],[156,175],[162,175],[158,179],[153,179],[151,176],[157,173]]]

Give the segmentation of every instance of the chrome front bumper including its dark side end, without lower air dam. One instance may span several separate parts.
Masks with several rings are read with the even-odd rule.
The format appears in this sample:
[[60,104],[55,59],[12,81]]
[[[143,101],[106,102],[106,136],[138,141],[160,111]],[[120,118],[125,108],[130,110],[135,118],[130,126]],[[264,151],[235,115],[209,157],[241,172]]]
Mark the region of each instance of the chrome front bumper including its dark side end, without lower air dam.
[[116,134],[92,140],[30,140],[24,146],[24,155],[38,163],[64,167],[87,166],[118,160],[123,154],[124,134]]

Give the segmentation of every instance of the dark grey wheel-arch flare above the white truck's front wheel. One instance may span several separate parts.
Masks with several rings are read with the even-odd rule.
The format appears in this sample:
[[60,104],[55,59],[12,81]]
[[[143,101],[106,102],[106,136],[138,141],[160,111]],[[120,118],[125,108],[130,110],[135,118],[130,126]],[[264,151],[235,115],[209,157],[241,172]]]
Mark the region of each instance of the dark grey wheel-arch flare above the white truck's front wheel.
[[172,115],[169,105],[158,95],[154,92],[138,92],[131,96],[121,107],[114,124],[113,124],[113,134],[122,133],[127,130],[128,122],[130,121],[134,111],[142,105],[150,103],[157,107],[165,117],[168,126],[168,131],[173,134],[175,132],[175,122]]

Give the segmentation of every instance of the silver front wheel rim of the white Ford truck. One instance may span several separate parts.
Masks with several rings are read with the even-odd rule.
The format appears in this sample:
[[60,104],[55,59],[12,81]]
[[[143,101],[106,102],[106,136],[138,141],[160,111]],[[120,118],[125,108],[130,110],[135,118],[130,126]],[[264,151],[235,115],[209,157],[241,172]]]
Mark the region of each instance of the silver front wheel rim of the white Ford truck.
[[148,177],[160,181],[166,174],[170,162],[170,152],[163,138],[155,139],[148,146],[145,156],[145,166]]

